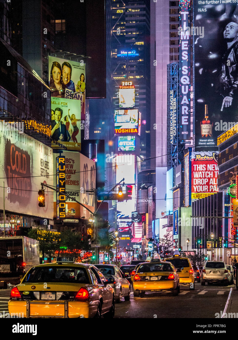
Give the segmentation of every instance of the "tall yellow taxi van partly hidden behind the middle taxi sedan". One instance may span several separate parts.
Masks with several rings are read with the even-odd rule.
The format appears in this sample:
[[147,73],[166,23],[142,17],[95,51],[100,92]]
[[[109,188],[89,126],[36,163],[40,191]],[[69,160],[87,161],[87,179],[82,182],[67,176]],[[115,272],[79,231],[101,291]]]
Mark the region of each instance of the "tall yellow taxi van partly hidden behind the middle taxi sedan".
[[178,269],[181,270],[179,272],[180,284],[189,285],[190,290],[195,289],[194,270],[188,257],[181,257],[180,252],[176,250],[173,254],[173,257],[168,257],[165,259],[165,261],[171,262],[176,268],[177,272]]

